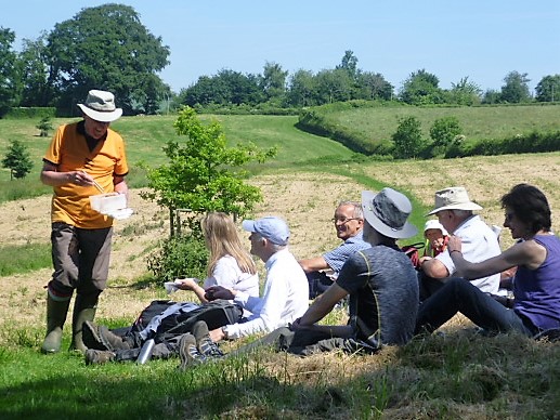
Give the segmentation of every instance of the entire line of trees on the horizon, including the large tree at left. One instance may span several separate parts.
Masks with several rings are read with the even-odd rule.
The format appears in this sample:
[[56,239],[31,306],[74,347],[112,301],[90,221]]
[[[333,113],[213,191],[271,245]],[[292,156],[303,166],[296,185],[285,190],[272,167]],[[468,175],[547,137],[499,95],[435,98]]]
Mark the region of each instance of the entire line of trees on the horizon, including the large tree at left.
[[14,40],[11,29],[0,27],[0,117],[12,107],[48,106],[71,116],[92,87],[113,91],[126,115],[156,114],[171,100],[174,107],[278,109],[351,100],[477,105],[560,96],[560,75],[543,77],[533,95],[528,74],[519,71],[507,74],[499,91],[483,92],[468,76],[442,89],[435,75],[418,69],[396,90],[381,74],[360,69],[351,50],[331,69],[289,75],[281,64],[266,62],[262,74],[221,69],[175,95],[158,76],[169,64],[169,47],[142,25],[133,8],[114,3],[82,9],[50,32],[25,39],[18,53]]

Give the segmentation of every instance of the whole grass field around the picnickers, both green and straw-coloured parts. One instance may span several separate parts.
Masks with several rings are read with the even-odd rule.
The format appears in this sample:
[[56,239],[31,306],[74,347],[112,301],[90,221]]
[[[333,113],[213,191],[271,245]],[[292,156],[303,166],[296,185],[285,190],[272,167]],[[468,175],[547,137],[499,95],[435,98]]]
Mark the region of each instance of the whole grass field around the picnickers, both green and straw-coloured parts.
[[[548,195],[554,227],[560,229],[558,153],[353,162],[352,153],[330,140],[294,129],[294,117],[218,118],[230,141],[253,140],[284,148],[250,182],[264,195],[256,215],[285,216],[292,229],[290,249],[299,258],[336,245],[328,220],[337,200],[357,198],[361,189],[385,185],[408,194],[415,206],[413,222],[421,227],[435,189],[465,185],[471,198],[483,205],[484,219],[499,225],[498,198],[511,185],[530,182]],[[173,120],[171,116],[134,117],[115,123],[129,144],[132,163],[162,161],[161,142],[173,135]],[[0,154],[14,132],[31,137],[26,140],[29,144],[37,142],[32,154],[39,162],[48,140],[34,136],[35,123],[0,120]],[[32,180],[25,181],[29,185],[38,184],[38,168]],[[14,183],[1,184],[2,194]],[[39,205],[32,210],[35,201]],[[138,214],[116,229],[112,286],[97,312],[97,319],[112,327],[130,324],[151,300],[166,297],[161,287],[146,281],[142,265],[146,250],[167,233],[166,213],[143,209],[138,201],[133,207]],[[9,253],[8,259],[16,261],[24,251],[11,244],[21,244],[22,237],[24,242],[48,241],[47,197],[0,204],[0,211],[5,232],[2,257]],[[503,245],[510,244],[504,232]],[[558,343],[516,334],[481,337],[460,317],[443,328],[445,336],[417,338],[403,349],[387,347],[375,356],[333,353],[298,358],[263,351],[186,372],[177,370],[177,359],[91,367],[71,353],[43,356],[38,349],[44,334],[42,286],[49,275],[45,267],[0,277],[1,419],[551,419],[560,412]],[[182,298],[190,300],[188,294]],[[338,311],[325,323],[343,319]],[[68,344],[69,328],[65,328],[63,346]],[[223,349],[237,345],[225,343]]]

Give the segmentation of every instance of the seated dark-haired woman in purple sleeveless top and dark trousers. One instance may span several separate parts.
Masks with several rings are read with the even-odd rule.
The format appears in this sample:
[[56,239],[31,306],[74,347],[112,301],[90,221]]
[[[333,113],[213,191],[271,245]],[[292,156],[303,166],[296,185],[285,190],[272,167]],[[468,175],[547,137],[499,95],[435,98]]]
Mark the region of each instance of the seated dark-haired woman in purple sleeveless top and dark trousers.
[[[447,249],[459,274],[420,306],[417,332],[432,332],[457,312],[491,332],[519,331],[534,337],[560,328],[560,239],[550,232],[550,208],[536,187],[519,184],[502,197],[504,226],[521,239],[502,254],[470,263],[463,258],[461,241],[451,237]],[[518,266],[515,303],[505,307],[468,279]]]

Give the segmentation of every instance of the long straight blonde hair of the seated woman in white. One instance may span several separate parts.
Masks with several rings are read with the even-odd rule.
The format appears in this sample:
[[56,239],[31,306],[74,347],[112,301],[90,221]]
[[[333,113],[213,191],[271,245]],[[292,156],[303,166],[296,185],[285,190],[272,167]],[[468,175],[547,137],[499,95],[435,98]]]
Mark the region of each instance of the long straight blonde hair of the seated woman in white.
[[200,222],[206,247],[210,251],[208,261],[208,277],[213,273],[218,260],[231,255],[237,262],[243,273],[256,274],[257,266],[249,252],[245,250],[230,215],[222,212],[211,212]]

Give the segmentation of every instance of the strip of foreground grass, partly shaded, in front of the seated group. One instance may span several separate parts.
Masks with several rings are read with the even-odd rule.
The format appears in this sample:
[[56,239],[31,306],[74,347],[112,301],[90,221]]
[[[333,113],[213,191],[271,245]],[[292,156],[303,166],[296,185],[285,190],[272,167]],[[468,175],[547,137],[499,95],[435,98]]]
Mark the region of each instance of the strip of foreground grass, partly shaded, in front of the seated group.
[[41,332],[3,331],[14,340],[0,349],[2,419],[541,419],[560,409],[560,346],[516,334],[417,338],[308,365],[263,349],[179,371],[177,358],[87,366],[74,353],[39,355]]

